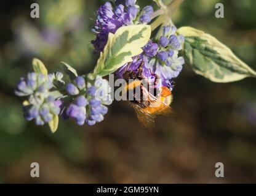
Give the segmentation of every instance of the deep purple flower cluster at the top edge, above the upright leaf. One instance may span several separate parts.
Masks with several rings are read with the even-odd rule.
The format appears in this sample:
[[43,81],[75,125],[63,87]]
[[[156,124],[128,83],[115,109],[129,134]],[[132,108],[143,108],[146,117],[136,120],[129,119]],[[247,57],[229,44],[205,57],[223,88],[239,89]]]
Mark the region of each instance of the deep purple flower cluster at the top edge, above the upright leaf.
[[151,6],[144,7],[140,12],[136,0],[126,0],[120,4],[116,1],[115,5],[106,2],[103,6],[100,6],[97,12],[97,20],[92,29],[97,34],[96,39],[92,40],[95,52],[103,51],[110,32],[115,33],[121,26],[134,23],[150,23],[152,13],[153,7]]

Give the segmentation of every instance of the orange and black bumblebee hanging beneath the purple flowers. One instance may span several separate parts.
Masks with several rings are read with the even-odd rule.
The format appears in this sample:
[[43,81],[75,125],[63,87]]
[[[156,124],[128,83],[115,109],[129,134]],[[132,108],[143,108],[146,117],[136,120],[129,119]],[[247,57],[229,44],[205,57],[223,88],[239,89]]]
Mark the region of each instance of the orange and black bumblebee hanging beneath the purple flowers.
[[[134,108],[138,121],[140,121],[145,129],[153,130],[156,116],[170,115],[172,113],[172,109],[170,108],[172,92],[166,86],[162,86],[158,92],[156,81],[154,81],[154,85],[151,87],[153,91],[152,89],[150,91],[146,88],[145,82],[142,82],[145,79],[142,71],[141,65],[136,70],[137,73],[132,70],[126,70],[124,72],[124,80],[127,81],[124,92],[130,94],[130,91],[132,91],[134,99],[130,100],[130,105]],[[134,81],[129,83],[129,79],[134,79]],[[139,95],[136,94],[136,88],[140,89]],[[139,99],[135,99],[136,97],[139,97]]]

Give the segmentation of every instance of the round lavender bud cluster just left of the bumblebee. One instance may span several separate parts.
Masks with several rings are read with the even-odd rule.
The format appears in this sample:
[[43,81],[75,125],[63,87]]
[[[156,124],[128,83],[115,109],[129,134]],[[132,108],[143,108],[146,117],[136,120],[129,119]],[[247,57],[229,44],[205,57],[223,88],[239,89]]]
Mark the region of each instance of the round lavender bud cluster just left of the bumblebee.
[[73,99],[63,110],[63,115],[74,118],[78,125],[100,123],[108,112],[105,105],[112,103],[110,91],[108,81],[102,77],[87,78],[87,81],[84,77],[76,77],[73,83],[66,85],[66,92]]

